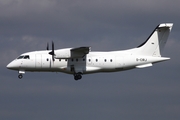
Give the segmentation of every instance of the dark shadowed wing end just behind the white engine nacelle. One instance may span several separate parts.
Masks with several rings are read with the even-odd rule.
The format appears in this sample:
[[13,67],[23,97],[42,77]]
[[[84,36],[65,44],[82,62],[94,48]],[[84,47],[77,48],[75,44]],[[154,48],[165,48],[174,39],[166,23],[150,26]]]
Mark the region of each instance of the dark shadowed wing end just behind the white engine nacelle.
[[86,54],[91,51],[91,47],[78,47],[71,49],[71,56],[84,57]]

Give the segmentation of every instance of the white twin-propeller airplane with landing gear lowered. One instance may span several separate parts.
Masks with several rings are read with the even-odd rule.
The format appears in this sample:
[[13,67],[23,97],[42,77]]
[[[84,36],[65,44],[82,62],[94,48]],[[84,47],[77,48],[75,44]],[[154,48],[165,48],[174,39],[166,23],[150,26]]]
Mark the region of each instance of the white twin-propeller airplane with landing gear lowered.
[[52,42],[52,50],[47,45],[47,50],[21,54],[7,68],[19,71],[19,79],[26,71],[37,71],[73,74],[74,79],[79,80],[83,74],[150,67],[170,59],[161,57],[161,52],[172,26],[172,23],[160,24],[137,48],[122,51],[91,52],[90,47],[54,50]]

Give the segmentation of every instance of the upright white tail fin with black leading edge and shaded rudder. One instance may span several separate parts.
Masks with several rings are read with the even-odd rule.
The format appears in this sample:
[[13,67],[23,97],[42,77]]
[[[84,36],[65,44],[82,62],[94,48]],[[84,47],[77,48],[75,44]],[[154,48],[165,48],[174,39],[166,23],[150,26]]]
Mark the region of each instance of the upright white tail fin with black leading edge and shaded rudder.
[[173,27],[173,23],[158,25],[148,39],[138,46],[138,54],[144,56],[161,57],[163,48]]

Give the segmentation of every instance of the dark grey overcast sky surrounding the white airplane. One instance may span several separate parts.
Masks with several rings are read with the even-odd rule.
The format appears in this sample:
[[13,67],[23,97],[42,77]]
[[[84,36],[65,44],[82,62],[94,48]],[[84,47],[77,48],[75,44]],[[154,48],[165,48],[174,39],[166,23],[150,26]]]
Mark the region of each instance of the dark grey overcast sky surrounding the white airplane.
[[[1,120],[179,120],[179,0],[0,0]],[[146,40],[160,23],[174,27],[163,55],[145,69],[84,75],[27,72],[6,65],[46,48],[123,50]]]

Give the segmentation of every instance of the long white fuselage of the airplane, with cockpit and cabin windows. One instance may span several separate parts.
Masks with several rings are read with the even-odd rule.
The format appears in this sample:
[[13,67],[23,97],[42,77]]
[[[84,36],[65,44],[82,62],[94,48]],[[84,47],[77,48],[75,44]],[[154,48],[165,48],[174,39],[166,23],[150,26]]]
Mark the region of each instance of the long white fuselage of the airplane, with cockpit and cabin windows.
[[138,56],[126,51],[90,52],[82,58],[52,59],[49,51],[35,51],[20,55],[7,67],[22,71],[74,73],[115,72],[148,65],[168,58]]

